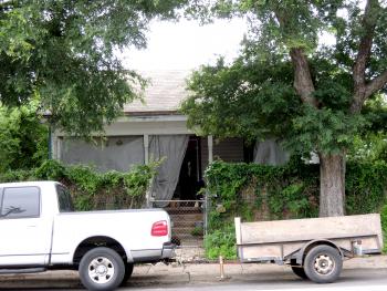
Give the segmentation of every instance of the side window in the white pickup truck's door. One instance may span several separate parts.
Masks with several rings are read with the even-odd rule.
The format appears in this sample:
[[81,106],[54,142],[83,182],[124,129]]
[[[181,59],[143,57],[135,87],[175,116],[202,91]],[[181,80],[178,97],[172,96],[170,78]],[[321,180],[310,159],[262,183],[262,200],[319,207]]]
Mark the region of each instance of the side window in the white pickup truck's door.
[[28,218],[40,215],[40,190],[38,187],[4,188],[1,218]]

